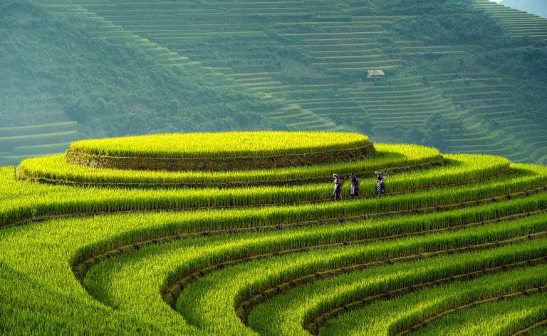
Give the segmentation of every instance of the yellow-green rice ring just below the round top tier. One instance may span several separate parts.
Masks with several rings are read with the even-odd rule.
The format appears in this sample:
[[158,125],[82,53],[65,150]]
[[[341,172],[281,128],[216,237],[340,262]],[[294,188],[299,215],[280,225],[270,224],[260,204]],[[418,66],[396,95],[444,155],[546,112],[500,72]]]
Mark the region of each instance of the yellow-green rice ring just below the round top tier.
[[389,168],[420,165],[438,161],[441,154],[435,148],[417,145],[386,145],[375,143],[377,158],[364,161],[333,163],[323,166],[303,166],[270,170],[245,171],[156,171],[97,169],[66,163],[63,155],[27,158],[21,162],[28,178],[73,181],[77,183],[230,183],[253,181],[321,178],[333,173],[364,173]]

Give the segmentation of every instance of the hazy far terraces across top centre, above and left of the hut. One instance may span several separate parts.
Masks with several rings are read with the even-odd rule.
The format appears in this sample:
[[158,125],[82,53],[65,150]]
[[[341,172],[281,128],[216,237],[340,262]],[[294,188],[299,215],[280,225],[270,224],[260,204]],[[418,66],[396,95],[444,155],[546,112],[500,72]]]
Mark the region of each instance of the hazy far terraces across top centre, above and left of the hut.
[[[386,34],[382,24],[401,16],[348,16],[332,1],[245,1],[236,4],[219,1],[210,3],[214,9],[178,1],[73,0],[71,3],[94,11],[105,20],[130,29],[133,34],[167,46],[171,52],[187,56],[219,76],[222,73],[248,88],[286,98],[291,107],[272,113],[271,118],[289,127],[307,130],[341,129],[332,122],[325,124],[318,119],[329,118],[339,111],[365,113],[363,104],[358,102],[346,101],[342,110],[323,105],[321,99],[334,98],[338,89],[353,84],[333,78],[337,74],[402,68],[404,54],[449,54],[472,48],[425,47],[420,41],[399,41],[397,48],[402,54],[380,55],[380,49],[373,45],[374,38]],[[265,22],[278,39],[269,36],[264,29]],[[275,53],[288,46],[298,46],[312,56],[311,66],[301,66],[290,58],[276,66]],[[311,73],[311,77],[306,83],[280,80],[281,76],[290,76],[292,72]]]

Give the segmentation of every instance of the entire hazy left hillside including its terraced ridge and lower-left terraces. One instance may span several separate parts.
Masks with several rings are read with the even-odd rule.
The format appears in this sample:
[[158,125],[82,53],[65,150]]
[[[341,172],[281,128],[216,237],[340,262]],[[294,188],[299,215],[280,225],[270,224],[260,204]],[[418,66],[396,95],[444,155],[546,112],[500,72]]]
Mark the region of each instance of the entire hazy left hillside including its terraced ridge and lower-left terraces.
[[257,113],[288,106],[66,0],[0,1],[0,78],[0,166],[91,136],[269,128]]

